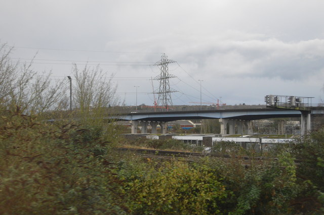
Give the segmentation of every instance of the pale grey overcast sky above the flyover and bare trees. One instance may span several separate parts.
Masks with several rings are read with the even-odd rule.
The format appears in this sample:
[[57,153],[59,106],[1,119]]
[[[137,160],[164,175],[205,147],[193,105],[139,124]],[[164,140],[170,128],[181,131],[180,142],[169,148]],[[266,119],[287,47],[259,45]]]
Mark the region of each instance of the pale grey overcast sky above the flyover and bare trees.
[[174,104],[199,102],[198,80],[203,102],[264,104],[278,94],[319,103],[323,10],[322,0],[1,0],[0,43],[15,46],[13,60],[37,52],[33,68],[53,79],[68,81],[72,63],[100,62],[127,105],[134,85],[138,104],[153,104],[152,65],[162,53],[177,62],[169,65]]

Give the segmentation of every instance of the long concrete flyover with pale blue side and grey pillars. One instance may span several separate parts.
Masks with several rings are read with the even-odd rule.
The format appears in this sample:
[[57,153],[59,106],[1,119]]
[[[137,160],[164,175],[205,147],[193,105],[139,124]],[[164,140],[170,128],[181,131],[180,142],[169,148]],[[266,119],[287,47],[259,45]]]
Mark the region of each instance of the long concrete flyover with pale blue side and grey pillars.
[[[167,122],[176,120],[191,119],[220,119],[221,134],[234,134],[234,128],[237,126],[237,132],[242,134],[252,133],[252,120],[301,117],[301,134],[311,130],[312,115],[323,115],[324,108],[313,108],[308,111],[259,108],[259,109],[234,109],[234,110],[208,110],[208,111],[177,111],[177,112],[152,112],[152,113],[130,113],[116,115],[110,118],[117,120],[131,121],[132,134],[137,133],[138,126],[141,126],[141,133],[147,133],[147,126],[152,128],[151,133],[156,133],[157,125],[160,126],[161,133],[166,133]],[[227,132],[227,124],[229,132]]]

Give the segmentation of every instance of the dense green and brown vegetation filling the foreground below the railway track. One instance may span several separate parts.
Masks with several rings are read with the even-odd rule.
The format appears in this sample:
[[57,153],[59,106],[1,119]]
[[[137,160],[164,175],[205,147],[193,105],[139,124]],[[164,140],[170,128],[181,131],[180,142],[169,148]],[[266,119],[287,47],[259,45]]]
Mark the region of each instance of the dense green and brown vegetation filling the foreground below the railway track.
[[[5,112],[0,213],[323,212],[324,130],[277,148],[277,160],[255,159],[249,166],[240,156],[188,162],[116,154],[106,138],[102,127],[48,124],[19,109]],[[245,155],[232,147],[236,155]]]

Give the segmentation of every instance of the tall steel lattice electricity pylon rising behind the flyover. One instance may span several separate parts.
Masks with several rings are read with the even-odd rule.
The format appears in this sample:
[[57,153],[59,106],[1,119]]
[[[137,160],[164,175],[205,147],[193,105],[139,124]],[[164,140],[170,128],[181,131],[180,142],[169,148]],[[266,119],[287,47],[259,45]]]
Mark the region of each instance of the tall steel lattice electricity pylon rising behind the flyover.
[[161,60],[156,62],[154,66],[158,66],[160,69],[160,75],[156,76],[154,80],[160,81],[160,86],[158,89],[157,105],[164,106],[165,109],[169,109],[172,106],[171,93],[177,92],[170,88],[169,78],[175,78],[176,76],[169,74],[169,64],[175,63],[173,60],[168,60],[168,56],[163,53]]

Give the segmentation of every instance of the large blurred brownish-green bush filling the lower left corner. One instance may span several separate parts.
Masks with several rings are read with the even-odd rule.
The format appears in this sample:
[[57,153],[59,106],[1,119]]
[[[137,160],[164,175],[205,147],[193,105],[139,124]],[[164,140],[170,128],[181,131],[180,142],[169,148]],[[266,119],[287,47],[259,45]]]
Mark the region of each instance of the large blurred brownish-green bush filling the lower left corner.
[[[0,125],[0,213],[119,213],[121,182],[98,129],[21,114]],[[118,194],[119,193],[119,194]]]

